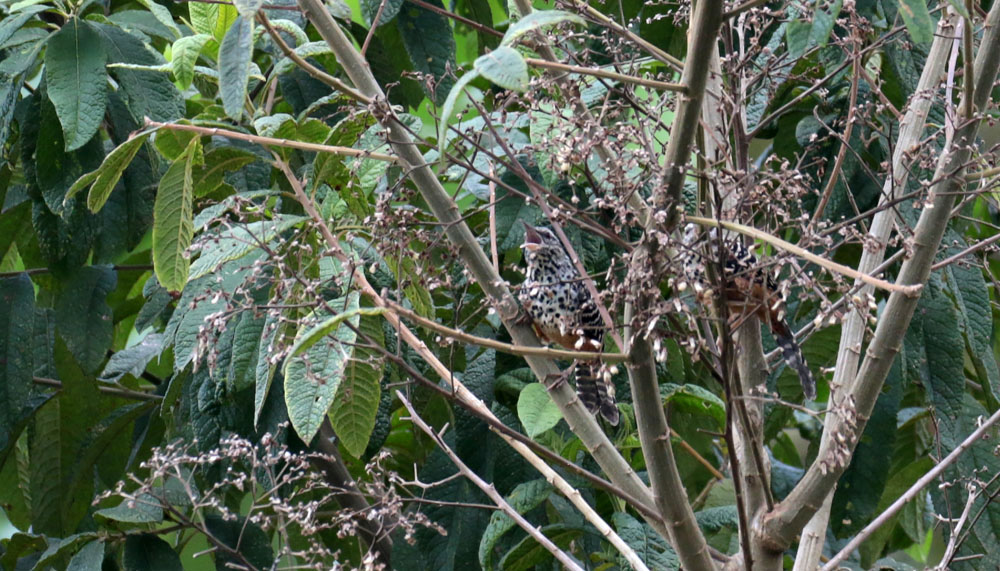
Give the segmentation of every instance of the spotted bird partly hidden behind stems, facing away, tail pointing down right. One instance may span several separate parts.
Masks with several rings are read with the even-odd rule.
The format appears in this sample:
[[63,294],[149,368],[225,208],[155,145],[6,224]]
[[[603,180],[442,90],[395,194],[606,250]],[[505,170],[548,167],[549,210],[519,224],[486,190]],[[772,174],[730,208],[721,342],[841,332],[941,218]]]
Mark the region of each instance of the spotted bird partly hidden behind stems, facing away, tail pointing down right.
[[[703,239],[704,234],[698,231],[695,224],[685,226],[682,239],[683,273],[699,297],[704,295],[708,287],[698,247]],[[717,252],[715,246],[719,241],[715,229],[708,234],[708,241],[713,246],[712,251]],[[758,267],[757,256],[740,240],[726,241],[725,258],[723,279],[730,313],[756,315],[770,327],[785,363],[799,375],[802,393],[807,399],[815,399],[816,378],[802,355],[802,347],[795,341],[795,334],[788,327],[788,321],[785,319],[785,299],[774,281],[774,276]]]

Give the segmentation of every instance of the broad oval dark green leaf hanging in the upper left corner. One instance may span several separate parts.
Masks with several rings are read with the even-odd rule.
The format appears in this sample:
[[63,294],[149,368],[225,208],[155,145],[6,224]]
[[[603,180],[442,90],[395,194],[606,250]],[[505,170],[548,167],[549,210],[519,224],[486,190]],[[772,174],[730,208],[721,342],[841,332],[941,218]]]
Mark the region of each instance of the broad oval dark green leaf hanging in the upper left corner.
[[107,54],[93,27],[73,18],[49,38],[45,83],[62,123],[66,150],[79,149],[97,132],[107,103]]

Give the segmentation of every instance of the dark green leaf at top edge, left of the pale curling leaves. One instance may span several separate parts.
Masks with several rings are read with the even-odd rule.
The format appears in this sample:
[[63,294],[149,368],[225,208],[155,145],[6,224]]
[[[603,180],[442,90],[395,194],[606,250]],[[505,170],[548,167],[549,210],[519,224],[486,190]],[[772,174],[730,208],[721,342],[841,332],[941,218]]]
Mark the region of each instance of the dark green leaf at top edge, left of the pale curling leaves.
[[[442,7],[440,0],[430,3]],[[455,35],[447,18],[414,4],[404,4],[396,26],[413,69],[434,78],[433,89],[426,82],[421,82],[421,87],[434,103],[441,104],[454,83],[451,70],[455,69]]]

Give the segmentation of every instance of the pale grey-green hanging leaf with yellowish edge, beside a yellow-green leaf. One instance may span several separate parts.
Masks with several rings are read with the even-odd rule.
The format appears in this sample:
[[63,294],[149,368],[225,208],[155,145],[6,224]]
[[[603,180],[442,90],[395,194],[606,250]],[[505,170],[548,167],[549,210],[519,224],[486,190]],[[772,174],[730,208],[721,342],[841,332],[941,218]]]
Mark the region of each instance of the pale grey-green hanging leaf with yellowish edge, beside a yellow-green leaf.
[[[331,302],[330,307],[341,313],[296,335],[285,360],[285,405],[292,427],[303,442],[311,442],[316,435],[343,379],[357,334],[342,322],[349,320],[358,326],[358,297],[357,292],[351,292],[346,299]],[[317,344],[331,331],[332,340]]]

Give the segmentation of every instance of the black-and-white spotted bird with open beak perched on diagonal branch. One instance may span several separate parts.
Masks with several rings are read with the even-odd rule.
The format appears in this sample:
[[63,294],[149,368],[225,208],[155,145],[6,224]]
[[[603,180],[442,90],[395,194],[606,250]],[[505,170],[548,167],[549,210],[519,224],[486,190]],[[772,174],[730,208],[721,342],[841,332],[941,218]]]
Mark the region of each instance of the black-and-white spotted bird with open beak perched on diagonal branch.
[[[572,351],[600,352],[604,347],[604,323],[585,278],[550,228],[535,228],[525,222],[524,230],[521,247],[527,275],[518,299],[535,334],[544,343]],[[611,425],[618,424],[614,385],[600,372],[596,360],[577,363],[576,392],[588,411],[600,413]]]

